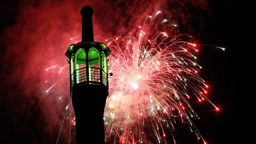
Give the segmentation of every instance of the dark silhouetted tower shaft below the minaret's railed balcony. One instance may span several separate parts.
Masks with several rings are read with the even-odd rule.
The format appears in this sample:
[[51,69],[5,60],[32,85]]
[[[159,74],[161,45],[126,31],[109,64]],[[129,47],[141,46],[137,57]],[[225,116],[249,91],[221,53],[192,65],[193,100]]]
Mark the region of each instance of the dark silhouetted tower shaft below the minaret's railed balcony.
[[[86,93],[85,93],[86,92]],[[76,114],[76,144],[105,144],[104,108],[108,89],[101,85],[73,86],[72,103]]]

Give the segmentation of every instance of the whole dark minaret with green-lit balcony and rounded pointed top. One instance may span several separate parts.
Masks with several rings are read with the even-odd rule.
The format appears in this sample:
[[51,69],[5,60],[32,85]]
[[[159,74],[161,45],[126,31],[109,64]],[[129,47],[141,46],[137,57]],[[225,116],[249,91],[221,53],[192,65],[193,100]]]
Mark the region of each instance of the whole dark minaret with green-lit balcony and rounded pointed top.
[[76,144],[104,144],[104,108],[108,96],[108,56],[111,50],[94,42],[93,9],[84,6],[82,41],[69,46],[70,96],[76,115]]

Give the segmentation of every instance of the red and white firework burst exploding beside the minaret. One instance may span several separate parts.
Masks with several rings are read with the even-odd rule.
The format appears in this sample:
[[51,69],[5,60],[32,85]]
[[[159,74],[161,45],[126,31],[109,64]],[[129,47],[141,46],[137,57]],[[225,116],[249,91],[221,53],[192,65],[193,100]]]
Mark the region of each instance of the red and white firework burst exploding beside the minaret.
[[105,40],[112,50],[108,71],[113,73],[104,112],[107,143],[166,144],[167,134],[176,143],[177,120],[206,143],[192,123],[199,117],[188,103],[195,97],[212,104],[198,75],[196,44],[187,34],[169,36],[177,25],[166,19],[157,23],[159,13],[148,16],[132,39]]

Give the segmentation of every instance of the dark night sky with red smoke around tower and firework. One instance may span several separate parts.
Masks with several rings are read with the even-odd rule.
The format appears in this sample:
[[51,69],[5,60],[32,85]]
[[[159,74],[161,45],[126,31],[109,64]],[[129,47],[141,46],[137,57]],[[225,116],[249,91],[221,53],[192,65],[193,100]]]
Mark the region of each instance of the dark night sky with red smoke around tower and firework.
[[[162,11],[179,25],[174,35],[190,34],[205,45],[198,56],[200,76],[210,84],[208,98],[220,112],[210,104],[193,103],[200,117],[194,121],[198,130],[208,144],[256,143],[255,94],[244,80],[251,78],[243,68],[249,63],[244,56],[245,30],[238,26],[245,22],[243,12],[232,0],[155,1],[2,0],[0,144],[56,144],[69,102],[69,73],[68,68],[59,73],[50,67],[68,64],[65,52],[81,36],[80,10],[85,5],[94,10],[94,36],[132,36],[147,15]],[[68,144],[65,124],[58,144]],[[187,131],[178,129],[177,135],[179,144],[196,143]]]

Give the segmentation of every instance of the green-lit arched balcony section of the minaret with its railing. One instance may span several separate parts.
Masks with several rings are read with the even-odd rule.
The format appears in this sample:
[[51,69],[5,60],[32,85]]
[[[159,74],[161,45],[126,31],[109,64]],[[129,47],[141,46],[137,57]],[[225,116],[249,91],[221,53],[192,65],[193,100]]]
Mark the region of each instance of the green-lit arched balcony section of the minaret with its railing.
[[70,64],[70,86],[98,84],[108,89],[110,53],[104,43],[85,41],[70,45],[65,53]]

